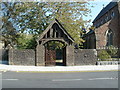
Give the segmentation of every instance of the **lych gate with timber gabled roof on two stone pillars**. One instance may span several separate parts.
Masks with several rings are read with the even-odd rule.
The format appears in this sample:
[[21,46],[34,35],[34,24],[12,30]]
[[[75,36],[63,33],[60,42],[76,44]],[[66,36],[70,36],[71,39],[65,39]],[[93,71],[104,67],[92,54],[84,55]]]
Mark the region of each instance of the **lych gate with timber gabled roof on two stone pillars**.
[[[67,33],[63,26],[55,19],[37,40],[36,65],[56,65],[56,57],[60,52],[56,52],[53,47],[55,42],[62,44],[62,65],[74,65],[74,39]],[[57,44],[56,44],[57,45]]]

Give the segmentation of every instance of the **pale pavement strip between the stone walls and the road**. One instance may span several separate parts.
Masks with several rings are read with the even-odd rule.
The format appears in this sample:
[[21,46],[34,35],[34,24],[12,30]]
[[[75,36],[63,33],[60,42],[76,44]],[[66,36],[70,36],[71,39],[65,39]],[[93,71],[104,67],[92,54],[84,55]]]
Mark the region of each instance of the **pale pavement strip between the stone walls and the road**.
[[119,71],[119,65],[84,65],[84,66],[17,66],[0,64],[0,71],[16,72],[95,72]]

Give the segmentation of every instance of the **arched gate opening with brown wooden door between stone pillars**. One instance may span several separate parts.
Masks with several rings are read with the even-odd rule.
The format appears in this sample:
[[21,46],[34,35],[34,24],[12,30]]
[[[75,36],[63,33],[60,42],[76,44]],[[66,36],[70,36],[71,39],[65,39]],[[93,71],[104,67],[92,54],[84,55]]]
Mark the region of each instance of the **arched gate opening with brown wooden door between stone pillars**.
[[60,41],[49,41],[45,47],[45,66],[66,65],[66,45]]

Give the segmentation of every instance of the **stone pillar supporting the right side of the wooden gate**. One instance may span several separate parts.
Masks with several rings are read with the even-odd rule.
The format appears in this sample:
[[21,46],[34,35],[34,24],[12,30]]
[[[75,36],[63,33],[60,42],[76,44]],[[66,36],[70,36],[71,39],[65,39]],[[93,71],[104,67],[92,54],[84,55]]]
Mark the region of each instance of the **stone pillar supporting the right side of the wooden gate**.
[[67,46],[66,47],[66,66],[74,65],[74,47]]

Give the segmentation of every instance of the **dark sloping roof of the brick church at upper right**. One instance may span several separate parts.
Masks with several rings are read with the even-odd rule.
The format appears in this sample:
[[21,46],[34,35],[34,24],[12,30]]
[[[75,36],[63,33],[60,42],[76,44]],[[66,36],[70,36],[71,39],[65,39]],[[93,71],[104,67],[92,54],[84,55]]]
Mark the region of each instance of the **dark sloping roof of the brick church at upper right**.
[[97,15],[97,17],[93,20],[93,23],[101,18],[105,13],[107,13],[110,9],[117,5],[117,2],[110,2],[105,8],[101,10],[101,12]]

